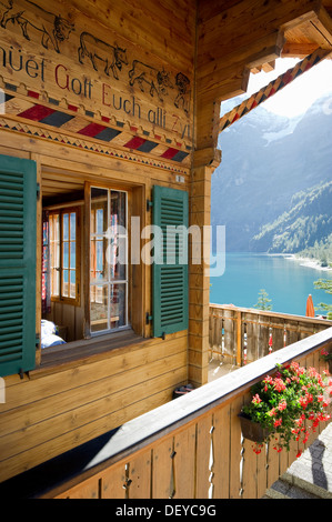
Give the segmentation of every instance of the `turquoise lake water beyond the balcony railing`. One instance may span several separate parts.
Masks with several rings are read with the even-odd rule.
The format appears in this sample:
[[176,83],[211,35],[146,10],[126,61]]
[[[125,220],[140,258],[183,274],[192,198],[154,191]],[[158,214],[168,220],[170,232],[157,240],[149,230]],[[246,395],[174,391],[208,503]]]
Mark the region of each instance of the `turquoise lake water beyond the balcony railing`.
[[224,265],[222,275],[210,279],[211,303],[252,308],[264,289],[273,312],[305,315],[310,293],[315,309],[320,302],[332,304],[332,294],[313,285],[318,279],[332,279],[332,271],[303,267],[280,255],[233,252],[227,253]]

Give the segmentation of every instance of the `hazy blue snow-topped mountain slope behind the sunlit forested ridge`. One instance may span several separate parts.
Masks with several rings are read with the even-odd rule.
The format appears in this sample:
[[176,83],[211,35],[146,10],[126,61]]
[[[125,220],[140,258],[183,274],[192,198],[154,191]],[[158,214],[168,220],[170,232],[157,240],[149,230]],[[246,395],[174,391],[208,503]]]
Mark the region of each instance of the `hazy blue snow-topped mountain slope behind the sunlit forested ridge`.
[[225,225],[228,251],[250,251],[262,227],[292,209],[295,193],[332,181],[326,102],[321,98],[296,119],[260,106],[220,134],[211,224]]

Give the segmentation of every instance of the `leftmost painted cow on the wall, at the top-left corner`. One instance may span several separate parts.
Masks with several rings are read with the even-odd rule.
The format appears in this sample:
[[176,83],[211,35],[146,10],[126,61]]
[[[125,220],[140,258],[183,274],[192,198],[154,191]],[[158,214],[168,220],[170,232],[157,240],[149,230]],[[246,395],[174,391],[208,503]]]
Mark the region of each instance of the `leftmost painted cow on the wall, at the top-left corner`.
[[[29,20],[28,13],[26,13],[27,10],[31,10],[32,6],[37,8],[40,13],[40,18],[33,21]],[[68,40],[70,32],[74,29],[73,23],[70,23],[60,14],[57,16],[46,11],[43,8],[37,6],[37,3],[30,2],[29,0],[21,0],[20,4],[17,7],[13,0],[8,0],[8,7],[2,14],[0,26],[6,28],[9,21],[20,26],[22,34],[27,40],[31,40],[28,29],[30,27],[34,28],[42,33],[42,46],[49,49],[49,43],[51,42],[57,52],[60,52],[59,42]]]

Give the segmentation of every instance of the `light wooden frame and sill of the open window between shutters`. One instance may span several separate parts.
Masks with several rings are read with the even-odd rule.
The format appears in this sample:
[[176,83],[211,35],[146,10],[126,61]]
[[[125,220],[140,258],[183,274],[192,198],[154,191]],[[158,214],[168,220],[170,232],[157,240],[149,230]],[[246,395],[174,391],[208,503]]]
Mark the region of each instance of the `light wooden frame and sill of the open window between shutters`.
[[[78,171],[79,172],[79,171]],[[42,178],[41,178],[42,181]],[[90,330],[90,191],[91,187],[121,191],[127,193],[127,232],[128,232],[128,271],[127,271],[127,324],[119,329],[103,330],[92,333]],[[142,340],[150,337],[150,325],[145,322],[145,302],[147,302],[147,278],[145,269],[140,260],[139,263],[131,264],[131,217],[135,215],[140,219],[140,230],[145,222],[145,185],[142,183],[133,184],[131,182],[121,183],[113,178],[105,178],[101,181],[84,179],[82,182],[82,193],[79,199],[71,200],[66,194],[66,201],[61,201],[61,194],[56,195],[52,202],[46,202],[41,210],[48,212],[68,210],[70,208],[80,208],[81,220],[81,304],[79,315],[82,318],[82,335],[59,347],[49,347],[38,349],[38,361],[41,367],[57,365],[64,360],[77,360],[89,358],[87,348],[91,347],[92,353],[107,352],[122,345],[122,339],[133,342],[133,339]],[[58,201],[56,202],[54,199]],[[40,233],[42,233],[42,222],[40,221]],[[139,243],[142,241],[139,235]],[[87,248],[88,247],[88,248]],[[41,253],[39,252],[39,267],[41,273]],[[38,270],[39,272],[39,270]],[[148,278],[149,280],[149,278]],[[149,290],[150,291],[150,290]],[[133,305],[133,302],[134,305]],[[64,304],[63,301],[59,301]],[[148,299],[149,302],[149,299]],[[56,303],[57,304],[57,303]],[[53,305],[53,304],[52,304]],[[150,304],[148,304],[150,308]],[[39,322],[38,322],[39,324]],[[64,324],[66,325],[66,324]],[[122,338],[123,334],[123,338]],[[128,337],[129,335],[129,337]],[[133,337],[132,337],[133,335]],[[107,344],[100,344],[101,340],[108,340]],[[121,340],[121,341],[120,341]],[[138,342],[139,342],[138,341]],[[94,344],[95,343],[95,344]],[[43,362],[42,362],[43,361]]]

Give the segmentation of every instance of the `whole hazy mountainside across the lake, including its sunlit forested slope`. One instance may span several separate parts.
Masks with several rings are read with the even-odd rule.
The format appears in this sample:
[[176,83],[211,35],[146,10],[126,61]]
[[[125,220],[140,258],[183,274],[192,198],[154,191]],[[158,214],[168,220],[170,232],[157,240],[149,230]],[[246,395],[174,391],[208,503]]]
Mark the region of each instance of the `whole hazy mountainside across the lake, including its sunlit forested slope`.
[[211,224],[229,252],[305,252],[332,262],[331,116],[318,99],[300,117],[259,107],[220,134]]

